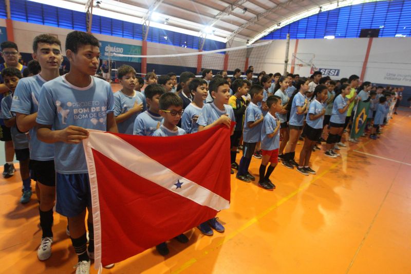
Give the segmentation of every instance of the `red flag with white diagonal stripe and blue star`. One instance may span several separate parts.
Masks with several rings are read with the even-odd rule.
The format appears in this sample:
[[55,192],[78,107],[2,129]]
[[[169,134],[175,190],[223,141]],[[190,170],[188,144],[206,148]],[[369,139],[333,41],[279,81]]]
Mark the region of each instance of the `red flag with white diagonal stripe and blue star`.
[[230,129],[147,137],[90,130],[95,266],[125,260],[230,204]]

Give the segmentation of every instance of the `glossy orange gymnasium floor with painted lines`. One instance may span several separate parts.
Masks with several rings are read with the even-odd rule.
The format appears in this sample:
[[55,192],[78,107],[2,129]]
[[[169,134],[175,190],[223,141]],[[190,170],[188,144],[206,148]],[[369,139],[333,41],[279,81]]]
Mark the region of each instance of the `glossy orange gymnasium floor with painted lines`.
[[[173,240],[166,258],[151,248],[103,272],[411,273],[410,109],[402,108],[383,132],[378,140],[347,142],[341,158],[314,152],[317,175],[279,165],[273,192],[232,175],[231,208],[218,214],[225,233],[192,229],[190,242]],[[252,159],[254,175],[259,162]],[[35,195],[25,206],[18,202],[18,172],[0,179],[0,193],[0,272],[72,273],[77,257],[66,218],[54,215],[52,256],[40,262]]]

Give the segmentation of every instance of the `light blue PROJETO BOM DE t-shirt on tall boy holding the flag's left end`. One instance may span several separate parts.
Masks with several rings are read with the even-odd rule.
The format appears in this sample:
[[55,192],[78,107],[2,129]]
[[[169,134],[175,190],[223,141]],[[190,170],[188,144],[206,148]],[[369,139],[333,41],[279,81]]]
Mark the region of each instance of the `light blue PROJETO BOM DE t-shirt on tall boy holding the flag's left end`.
[[[114,96],[110,84],[91,77],[86,87],[73,86],[65,76],[43,84],[36,122],[64,130],[69,125],[84,129],[107,130],[107,114],[114,112]],[[56,142],[55,171],[61,174],[87,173],[83,144]]]

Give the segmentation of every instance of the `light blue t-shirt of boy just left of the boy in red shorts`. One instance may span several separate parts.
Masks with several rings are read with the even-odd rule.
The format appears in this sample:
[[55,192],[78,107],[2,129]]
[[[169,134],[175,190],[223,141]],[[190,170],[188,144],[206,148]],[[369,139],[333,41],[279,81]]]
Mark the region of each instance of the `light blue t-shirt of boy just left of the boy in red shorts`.
[[263,126],[263,123],[259,123],[256,126],[248,127],[248,122],[255,122],[259,119],[261,119],[261,115],[263,113],[261,112],[261,108],[251,102],[247,109],[246,109],[246,114],[244,116],[244,130],[242,131],[242,139],[247,142],[247,143],[256,143],[261,140],[261,127]]

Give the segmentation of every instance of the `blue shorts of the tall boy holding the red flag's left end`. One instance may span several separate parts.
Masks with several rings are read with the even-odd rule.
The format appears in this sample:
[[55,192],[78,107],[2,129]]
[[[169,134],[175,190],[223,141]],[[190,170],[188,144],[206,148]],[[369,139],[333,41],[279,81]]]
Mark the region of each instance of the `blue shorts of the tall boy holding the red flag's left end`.
[[66,217],[76,217],[86,207],[91,207],[88,173],[57,173],[55,211]]

